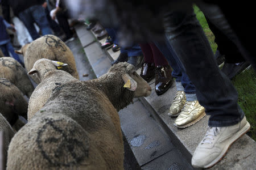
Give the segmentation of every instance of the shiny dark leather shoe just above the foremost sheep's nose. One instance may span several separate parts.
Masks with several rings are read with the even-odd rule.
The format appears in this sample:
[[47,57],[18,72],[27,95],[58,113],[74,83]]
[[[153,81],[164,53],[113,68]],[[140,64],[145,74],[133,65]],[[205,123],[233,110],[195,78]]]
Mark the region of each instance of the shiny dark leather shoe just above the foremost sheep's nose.
[[144,63],[141,68],[141,77],[150,82],[155,77],[155,64],[154,63]]

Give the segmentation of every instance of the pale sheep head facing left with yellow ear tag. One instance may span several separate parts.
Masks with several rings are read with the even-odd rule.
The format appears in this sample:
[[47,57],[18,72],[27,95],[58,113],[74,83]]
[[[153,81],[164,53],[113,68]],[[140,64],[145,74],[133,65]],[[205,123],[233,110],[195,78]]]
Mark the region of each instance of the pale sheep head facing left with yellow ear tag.
[[46,75],[46,73],[48,73],[49,71],[57,70],[67,65],[67,63],[41,58],[34,63],[33,68],[27,74],[36,76],[36,78],[39,79],[39,82],[41,82],[44,78],[44,75]]

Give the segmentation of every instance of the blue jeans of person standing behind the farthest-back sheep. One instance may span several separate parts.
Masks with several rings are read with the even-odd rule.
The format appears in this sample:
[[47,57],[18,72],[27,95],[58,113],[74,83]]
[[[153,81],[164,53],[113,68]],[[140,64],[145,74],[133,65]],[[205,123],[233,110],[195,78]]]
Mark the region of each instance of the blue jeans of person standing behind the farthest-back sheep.
[[40,35],[36,32],[34,22],[38,24],[42,31],[42,35],[52,34],[51,28],[49,27],[46,13],[41,5],[34,5],[30,8],[19,13],[19,19],[22,20],[24,25],[27,27],[33,40],[38,39]]

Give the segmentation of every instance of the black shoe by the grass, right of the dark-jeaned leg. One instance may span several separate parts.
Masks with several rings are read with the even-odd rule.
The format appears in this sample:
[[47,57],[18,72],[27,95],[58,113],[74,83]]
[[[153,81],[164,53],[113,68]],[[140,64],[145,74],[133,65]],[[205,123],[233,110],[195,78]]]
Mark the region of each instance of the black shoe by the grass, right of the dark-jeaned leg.
[[238,65],[236,63],[224,63],[221,71],[231,80],[248,66],[250,66],[250,63],[247,61],[240,62]]

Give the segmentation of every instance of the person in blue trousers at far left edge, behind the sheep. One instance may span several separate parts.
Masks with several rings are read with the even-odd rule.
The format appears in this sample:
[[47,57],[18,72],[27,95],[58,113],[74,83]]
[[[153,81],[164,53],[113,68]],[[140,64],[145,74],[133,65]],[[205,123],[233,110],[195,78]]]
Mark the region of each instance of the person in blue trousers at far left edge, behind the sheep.
[[4,54],[4,56],[10,56],[9,52],[13,56],[16,61],[18,61],[23,67],[24,63],[19,59],[18,54],[14,52],[13,45],[11,45],[10,37],[6,31],[6,28],[13,29],[15,31],[15,28],[13,25],[7,23],[2,16],[0,16],[0,48]]

